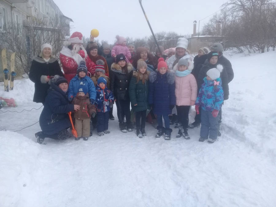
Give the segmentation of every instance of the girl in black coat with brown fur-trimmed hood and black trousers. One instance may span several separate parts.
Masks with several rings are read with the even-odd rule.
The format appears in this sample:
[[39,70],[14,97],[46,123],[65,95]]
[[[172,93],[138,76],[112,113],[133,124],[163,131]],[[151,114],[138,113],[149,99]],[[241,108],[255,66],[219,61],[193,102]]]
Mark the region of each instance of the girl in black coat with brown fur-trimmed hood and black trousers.
[[[110,89],[116,100],[119,127],[122,132],[131,132],[133,127],[130,121],[128,87],[132,78],[133,67],[131,63],[126,62],[127,60],[123,54],[116,56],[116,63],[111,65]],[[124,119],[126,119],[126,123]]]

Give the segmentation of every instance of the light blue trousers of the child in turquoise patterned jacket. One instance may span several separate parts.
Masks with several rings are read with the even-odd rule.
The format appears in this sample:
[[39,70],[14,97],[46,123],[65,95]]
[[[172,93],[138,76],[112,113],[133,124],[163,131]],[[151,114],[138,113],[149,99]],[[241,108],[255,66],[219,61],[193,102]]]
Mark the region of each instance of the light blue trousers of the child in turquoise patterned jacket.
[[218,116],[213,117],[212,111],[205,111],[201,109],[201,128],[200,136],[208,139],[208,136],[212,140],[217,139],[219,131]]

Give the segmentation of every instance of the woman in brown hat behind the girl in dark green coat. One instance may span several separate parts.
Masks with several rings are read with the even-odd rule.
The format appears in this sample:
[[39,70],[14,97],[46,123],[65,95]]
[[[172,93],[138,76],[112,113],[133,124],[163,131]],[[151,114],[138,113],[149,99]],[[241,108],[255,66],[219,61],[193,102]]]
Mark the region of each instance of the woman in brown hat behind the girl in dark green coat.
[[158,64],[158,59],[155,58],[151,53],[147,52],[147,48],[139,47],[136,50],[136,56],[133,57],[132,65],[134,68],[137,68],[137,62],[139,59],[144,59],[144,61],[147,63],[148,68],[147,70],[152,72],[155,71]]

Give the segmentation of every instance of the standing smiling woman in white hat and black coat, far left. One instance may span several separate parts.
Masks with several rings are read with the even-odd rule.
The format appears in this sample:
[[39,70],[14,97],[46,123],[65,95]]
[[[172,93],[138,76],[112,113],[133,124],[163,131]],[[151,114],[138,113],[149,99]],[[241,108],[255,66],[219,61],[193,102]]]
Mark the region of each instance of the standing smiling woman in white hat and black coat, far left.
[[[50,79],[49,76],[53,76]],[[64,76],[56,57],[52,56],[52,46],[50,44],[41,45],[39,56],[33,57],[33,62],[29,72],[29,78],[35,83],[33,102],[44,105],[47,91],[50,84],[55,82],[59,76]]]

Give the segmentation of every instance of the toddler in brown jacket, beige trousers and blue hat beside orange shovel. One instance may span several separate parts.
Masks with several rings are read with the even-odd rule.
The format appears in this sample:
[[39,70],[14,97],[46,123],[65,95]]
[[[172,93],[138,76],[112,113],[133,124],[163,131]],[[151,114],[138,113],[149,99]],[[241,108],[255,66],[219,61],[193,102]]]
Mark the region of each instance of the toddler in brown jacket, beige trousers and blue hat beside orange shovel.
[[96,115],[95,105],[90,103],[87,91],[88,87],[86,85],[79,85],[77,96],[73,100],[73,104],[80,106],[80,109],[74,113],[75,129],[78,134],[75,140],[79,140],[81,137],[83,140],[88,140],[90,134],[90,117],[95,117]]

